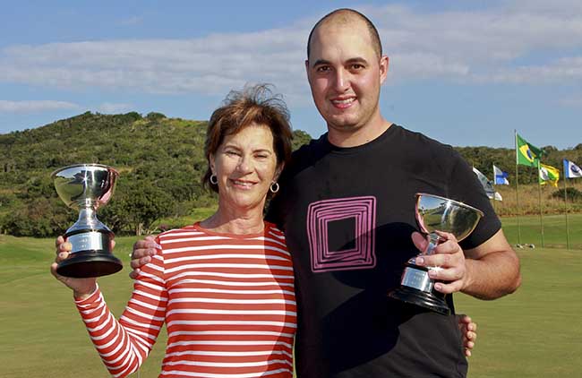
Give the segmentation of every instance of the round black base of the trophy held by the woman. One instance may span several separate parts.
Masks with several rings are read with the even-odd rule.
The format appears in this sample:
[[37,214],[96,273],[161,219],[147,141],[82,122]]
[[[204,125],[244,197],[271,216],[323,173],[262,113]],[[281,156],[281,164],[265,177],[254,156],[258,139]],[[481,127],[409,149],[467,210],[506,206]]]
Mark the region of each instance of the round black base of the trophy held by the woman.
[[101,277],[121,271],[121,260],[106,251],[81,251],[71,255],[56,267],[61,276],[75,279]]

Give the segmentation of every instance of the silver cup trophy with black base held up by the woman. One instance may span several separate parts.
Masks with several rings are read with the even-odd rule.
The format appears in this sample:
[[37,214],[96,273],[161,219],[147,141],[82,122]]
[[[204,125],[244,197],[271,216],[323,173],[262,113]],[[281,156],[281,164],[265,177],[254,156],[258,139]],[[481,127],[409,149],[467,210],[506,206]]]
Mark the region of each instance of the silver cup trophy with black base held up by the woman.
[[98,208],[111,199],[117,176],[115,169],[100,164],[78,164],[51,174],[61,200],[68,207],[79,210],[79,219],[64,234],[73,249],[71,255],[58,264],[58,274],[74,278],[99,277],[123,268],[122,262],[111,253],[113,231],[96,215]]

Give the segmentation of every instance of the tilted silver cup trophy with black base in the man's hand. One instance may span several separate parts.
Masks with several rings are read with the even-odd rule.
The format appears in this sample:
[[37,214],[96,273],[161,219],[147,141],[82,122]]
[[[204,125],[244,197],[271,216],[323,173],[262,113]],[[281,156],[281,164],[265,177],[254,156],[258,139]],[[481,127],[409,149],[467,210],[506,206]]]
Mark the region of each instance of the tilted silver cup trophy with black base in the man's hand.
[[[435,231],[453,234],[460,242],[477,226],[483,211],[462,202],[449,200],[438,195],[416,193],[416,222],[424,234],[429,236],[429,245],[423,254],[432,254],[442,238]],[[417,257],[417,256],[416,256]],[[389,296],[409,304],[420,305],[439,314],[450,314],[445,295],[434,290],[434,280],[428,272],[441,269],[438,266],[425,268],[415,264],[416,258],[408,260],[400,287]]]

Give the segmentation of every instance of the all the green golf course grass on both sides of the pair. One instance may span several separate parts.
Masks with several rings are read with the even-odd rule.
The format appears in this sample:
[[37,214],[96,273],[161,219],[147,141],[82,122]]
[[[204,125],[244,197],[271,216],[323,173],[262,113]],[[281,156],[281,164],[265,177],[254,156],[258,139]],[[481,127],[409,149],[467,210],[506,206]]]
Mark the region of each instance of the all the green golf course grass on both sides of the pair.
[[[563,216],[544,217],[546,245],[565,245]],[[541,248],[539,218],[520,219],[523,285],[514,295],[484,302],[458,295],[458,312],[479,324],[469,376],[476,378],[578,376],[582,365],[582,215],[570,216],[570,238],[578,249]],[[503,219],[512,244],[516,219]],[[99,279],[107,303],[119,315],[130,296],[127,277],[135,237],[118,237],[116,256],[124,271]],[[73,305],[72,294],[48,269],[52,239],[0,236],[0,375],[20,377],[103,377],[107,370],[92,347]],[[158,376],[166,335],[141,377]],[[138,374],[133,374],[137,377]]]

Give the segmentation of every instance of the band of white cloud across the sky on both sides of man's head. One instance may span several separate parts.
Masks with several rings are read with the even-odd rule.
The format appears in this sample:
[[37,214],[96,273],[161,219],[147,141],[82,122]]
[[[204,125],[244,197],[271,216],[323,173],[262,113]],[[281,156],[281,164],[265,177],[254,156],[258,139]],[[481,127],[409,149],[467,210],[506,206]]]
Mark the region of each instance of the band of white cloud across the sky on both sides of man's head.
[[[406,5],[363,11],[380,30],[390,81],[582,82],[582,2],[498,4],[462,12],[423,13]],[[271,82],[288,99],[307,103],[303,61],[312,22],[197,39],[12,46],[0,51],[0,82],[205,95]]]

